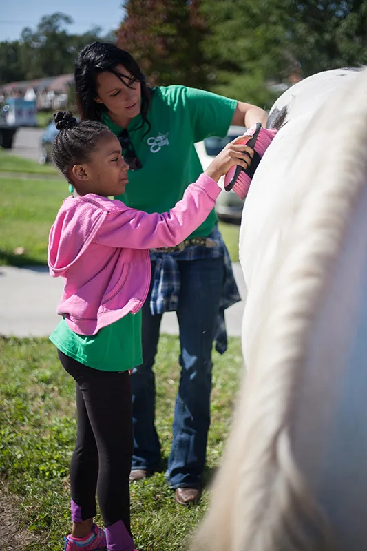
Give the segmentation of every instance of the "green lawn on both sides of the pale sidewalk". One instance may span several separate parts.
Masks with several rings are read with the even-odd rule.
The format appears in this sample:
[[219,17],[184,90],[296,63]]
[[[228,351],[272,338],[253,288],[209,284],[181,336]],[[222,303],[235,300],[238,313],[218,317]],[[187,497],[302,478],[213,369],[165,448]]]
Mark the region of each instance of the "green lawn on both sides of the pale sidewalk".
[[[0,264],[45,264],[48,232],[66,195],[65,180],[51,167],[0,152]],[[220,227],[237,260],[238,227]],[[213,360],[207,482],[220,462],[228,432],[242,366],[240,340],[230,339],[227,353],[214,352]],[[182,508],[165,483],[180,372],[176,337],[161,337],[156,364],[162,470],[132,485],[132,530],[138,548],[180,551],[202,518],[208,495],[205,491],[198,506]],[[48,339],[1,336],[0,382],[0,549],[60,551],[63,535],[70,532],[74,383]]]

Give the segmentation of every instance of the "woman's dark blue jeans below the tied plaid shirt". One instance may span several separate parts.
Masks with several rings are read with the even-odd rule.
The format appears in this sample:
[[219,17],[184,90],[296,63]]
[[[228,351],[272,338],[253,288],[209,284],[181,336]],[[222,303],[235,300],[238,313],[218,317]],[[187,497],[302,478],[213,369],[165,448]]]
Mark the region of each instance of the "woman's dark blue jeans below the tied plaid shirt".
[[[201,486],[210,425],[211,349],[216,333],[223,258],[178,262],[180,268],[181,376],[173,423],[167,480],[171,488]],[[152,265],[154,273],[154,265]],[[154,426],[156,357],[162,315],[151,315],[149,296],[143,306],[143,364],[131,376],[134,455],[132,469],[157,470],[160,442]]]

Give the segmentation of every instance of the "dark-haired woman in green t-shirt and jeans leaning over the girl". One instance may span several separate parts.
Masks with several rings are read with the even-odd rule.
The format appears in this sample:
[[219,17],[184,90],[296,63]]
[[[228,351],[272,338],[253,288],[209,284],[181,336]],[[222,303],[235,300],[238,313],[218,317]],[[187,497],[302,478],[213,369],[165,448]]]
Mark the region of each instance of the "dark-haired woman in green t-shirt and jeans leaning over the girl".
[[[76,59],[82,119],[102,121],[118,136],[129,164],[129,187],[116,198],[163,212],[202,171],[194,143],[225,136],[229,125],[266,125],[264,110],[185,86],[149,88],[132,56],[95,42]],[[173,183],[174,182],[174,183]],[[132,372],[134,455],[131,480],[158,470],[154,426],[156,356],[162,313],[176,311],[181,377],[167,481],[184,505],[200,497],[210,424],[211,349],[227,347],[224,309],[240,300],[215,211],[177,247],[151,249],[152,278],[143,306],[143,364]]]

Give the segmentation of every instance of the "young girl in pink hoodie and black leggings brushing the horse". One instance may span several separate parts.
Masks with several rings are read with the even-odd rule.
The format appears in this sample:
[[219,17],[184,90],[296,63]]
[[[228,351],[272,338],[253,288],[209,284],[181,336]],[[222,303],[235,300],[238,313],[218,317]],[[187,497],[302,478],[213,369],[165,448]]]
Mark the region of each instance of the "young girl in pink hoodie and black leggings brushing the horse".
[[[78,430],[70,466],[72,533],[65,551],[133,551],[129,519],[132,397],[129,370],[141,364],[141,307],[150,282],[149,248],[185,240],[207,217],[216,184],[253,150],[227,145],[176,206],[147,214],[109,196],[123,194],[128,165],[118,138],[97,121],[54,115],[56,166],[74,187],[50,231],[48,264],[65,288],[50,336],[76,380]],[[96,498],[105,531],[93,523]]]

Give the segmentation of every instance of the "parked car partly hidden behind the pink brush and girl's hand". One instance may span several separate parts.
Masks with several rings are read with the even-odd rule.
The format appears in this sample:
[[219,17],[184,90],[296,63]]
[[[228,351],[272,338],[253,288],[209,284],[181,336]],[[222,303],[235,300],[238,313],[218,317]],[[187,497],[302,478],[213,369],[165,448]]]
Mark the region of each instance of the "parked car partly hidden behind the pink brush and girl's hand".
[[[218,155],[227,143],[237,136],[242,136],[245,128],[242,126],[230,126],[225,138],[211,136],[195,144],[196,152],[200,158],[202,168],[205,170],[213,158]],[[220,178],[218,184],[224,188],[224,177]],[[225,222],[240,224],[244,200],[240,199],[234,191],[221,191],[216,202],[216,213],[218,218]]]

